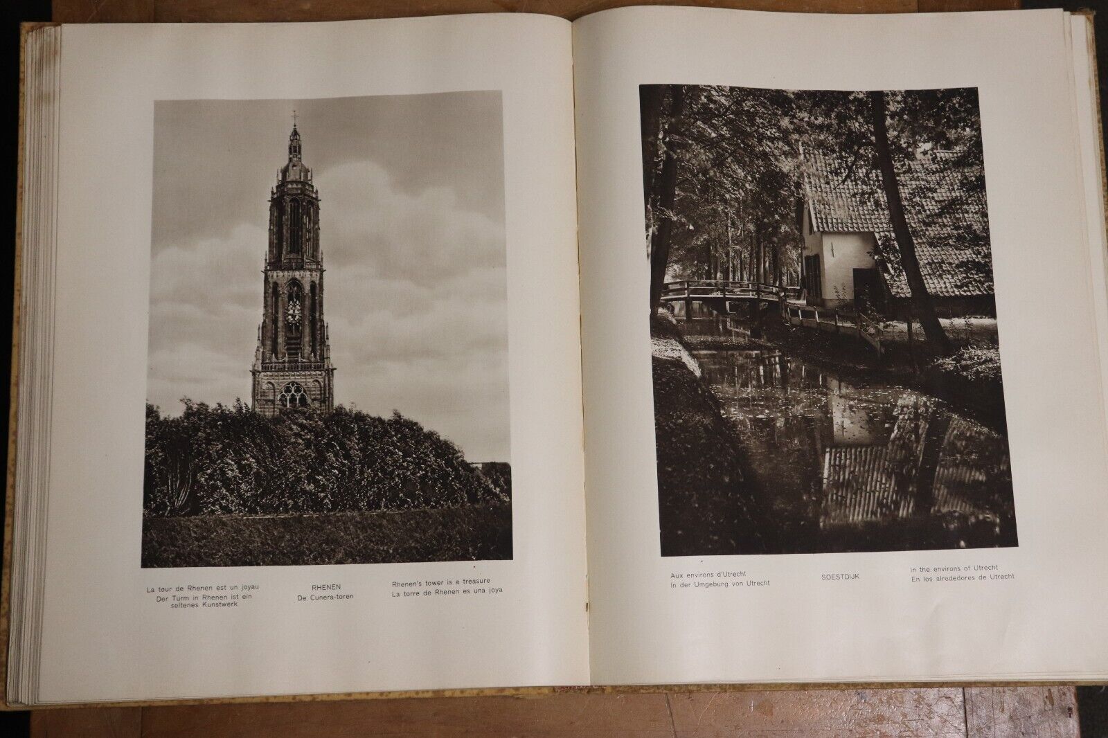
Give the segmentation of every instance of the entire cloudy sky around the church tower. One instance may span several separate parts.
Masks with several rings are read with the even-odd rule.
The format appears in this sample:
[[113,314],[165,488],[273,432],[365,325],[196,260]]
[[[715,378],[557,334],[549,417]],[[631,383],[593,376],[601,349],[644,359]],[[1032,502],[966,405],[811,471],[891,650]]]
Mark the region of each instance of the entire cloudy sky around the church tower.
[[320,197],[335,401],[509,461],[499,92],[160,101],[147,401],[249,402],[291,112]]

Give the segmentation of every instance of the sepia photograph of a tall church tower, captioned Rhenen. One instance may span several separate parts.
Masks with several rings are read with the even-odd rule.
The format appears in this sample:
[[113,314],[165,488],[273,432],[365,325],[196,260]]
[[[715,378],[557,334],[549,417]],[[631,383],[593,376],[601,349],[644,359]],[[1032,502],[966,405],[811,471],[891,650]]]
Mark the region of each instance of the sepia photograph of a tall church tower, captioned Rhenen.
[[142,565],[512,558],[500,92],[157,101],[153,162]]

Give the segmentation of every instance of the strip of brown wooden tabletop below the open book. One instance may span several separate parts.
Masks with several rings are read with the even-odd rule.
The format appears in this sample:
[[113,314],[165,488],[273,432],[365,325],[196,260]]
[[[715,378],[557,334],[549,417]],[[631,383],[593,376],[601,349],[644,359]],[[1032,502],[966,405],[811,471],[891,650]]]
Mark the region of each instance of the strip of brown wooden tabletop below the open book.
[[1071,687],[562,694],[40,710],[35,738],[1076,738]]

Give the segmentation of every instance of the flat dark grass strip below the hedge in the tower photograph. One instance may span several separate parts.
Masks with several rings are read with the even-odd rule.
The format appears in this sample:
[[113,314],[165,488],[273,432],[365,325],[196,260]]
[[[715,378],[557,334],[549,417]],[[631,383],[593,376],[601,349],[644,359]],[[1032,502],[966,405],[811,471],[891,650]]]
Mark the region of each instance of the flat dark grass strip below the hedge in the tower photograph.
[[283,566],[512,557],[512,508],[143,520],[142,565]]

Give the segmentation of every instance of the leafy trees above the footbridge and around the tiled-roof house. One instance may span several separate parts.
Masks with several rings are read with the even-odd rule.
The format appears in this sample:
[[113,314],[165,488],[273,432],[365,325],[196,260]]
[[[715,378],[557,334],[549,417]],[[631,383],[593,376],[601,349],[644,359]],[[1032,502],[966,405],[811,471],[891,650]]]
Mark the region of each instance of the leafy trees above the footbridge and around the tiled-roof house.
[[[913,162],[930,152],[951,154],[944,168],[956,183],[947,177],[903,192],[903,207],[927,208],[927,217],[942,217],[958,198],[985,188],[977,93],[971,88],[875,94],[644,85],[640,103],[652,310],[667,274],[710,276],[724,254],[730,255],[732,279],[783,284],[799,273],[802,146],[848,161],[848,175],[862,168],[893,173],[892,182],[883,177],[883,192],[874,192],[886,202]],[[878,116],[883,131],[875,130]],[[919,275],[909,274],[915,262],[911,234],[897,230],[893,266],[904,269],[916,310],[930,315],[931,297]],[[955,244],[965,246],[988,237],[956,236]],[[973,271],[979,265],[965,266]],[[927,322],[929,337],[944,342],[942,329],[935,332],[937,319]]]

